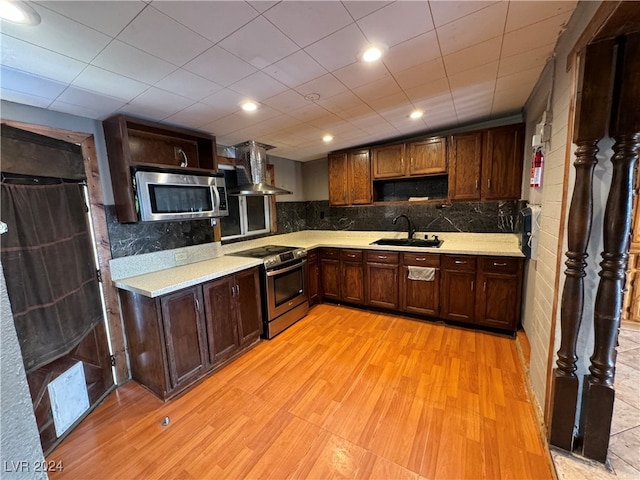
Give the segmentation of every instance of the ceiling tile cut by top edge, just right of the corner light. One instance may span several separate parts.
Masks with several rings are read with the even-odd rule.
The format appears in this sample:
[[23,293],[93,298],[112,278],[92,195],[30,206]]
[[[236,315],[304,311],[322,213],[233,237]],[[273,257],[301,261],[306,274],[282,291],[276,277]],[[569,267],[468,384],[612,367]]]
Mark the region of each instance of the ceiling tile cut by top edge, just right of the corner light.
[[[140,1],[59,1],[37,2],[37,5],[54,10],[71,20],[115,37],[144,7]],[[37,6],[35,6],[38,9]]]

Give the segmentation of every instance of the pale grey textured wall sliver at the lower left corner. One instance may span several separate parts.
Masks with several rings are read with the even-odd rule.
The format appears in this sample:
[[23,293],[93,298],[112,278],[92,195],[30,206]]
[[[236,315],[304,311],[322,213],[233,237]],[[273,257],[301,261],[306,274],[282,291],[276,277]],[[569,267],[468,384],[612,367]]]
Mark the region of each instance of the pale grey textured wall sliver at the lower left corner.
[[0,468],[4,472],[2,477],[47,478],[47,474],[42,471],[44,455],[1,264],[0,433]]

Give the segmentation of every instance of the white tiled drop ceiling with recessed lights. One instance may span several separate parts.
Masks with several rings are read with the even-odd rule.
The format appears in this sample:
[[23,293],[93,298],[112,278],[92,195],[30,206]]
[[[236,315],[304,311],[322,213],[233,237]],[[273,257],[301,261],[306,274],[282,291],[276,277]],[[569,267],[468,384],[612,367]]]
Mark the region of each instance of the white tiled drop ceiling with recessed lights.
[[[575,1],[39,1],[3,21],[5,100],[328,151],[519,113]],[[369,43],[387,48],[365,64]],[[319,99],[305,96],[316,94]],[[240,109],[259,102],[253,113]],[[414,109],[425,112],[412,120]],[[324,143],[325,134],[334,136]]]

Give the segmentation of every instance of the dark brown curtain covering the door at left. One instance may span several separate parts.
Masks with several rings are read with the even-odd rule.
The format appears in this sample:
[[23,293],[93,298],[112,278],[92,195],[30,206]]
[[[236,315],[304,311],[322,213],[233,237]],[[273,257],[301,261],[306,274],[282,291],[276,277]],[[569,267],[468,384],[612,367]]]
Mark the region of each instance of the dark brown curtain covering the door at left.
[[2,184],[0,258],[27,372],[68,353],[99,322],[91,234],[77,183]]

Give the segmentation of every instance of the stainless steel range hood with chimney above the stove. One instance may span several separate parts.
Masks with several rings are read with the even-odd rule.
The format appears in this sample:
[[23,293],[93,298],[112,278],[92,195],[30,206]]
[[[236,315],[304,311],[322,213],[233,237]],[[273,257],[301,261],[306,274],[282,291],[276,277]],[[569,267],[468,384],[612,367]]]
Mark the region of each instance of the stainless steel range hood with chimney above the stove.
[[253,140],[234,145],[238,186],[229,195],[290,195],[293,192],[267,182],[267,150],[273,148]]

